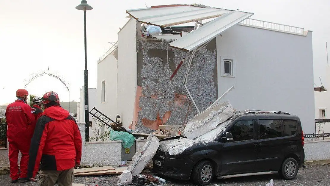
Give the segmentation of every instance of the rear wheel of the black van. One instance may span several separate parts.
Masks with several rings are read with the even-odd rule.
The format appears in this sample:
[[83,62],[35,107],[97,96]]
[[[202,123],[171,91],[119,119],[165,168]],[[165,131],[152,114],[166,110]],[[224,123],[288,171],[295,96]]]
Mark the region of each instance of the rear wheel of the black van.
[[281,167],[281,176],[284,179],[293,179],[298,173],[298,163],[294,158],[287,158]]

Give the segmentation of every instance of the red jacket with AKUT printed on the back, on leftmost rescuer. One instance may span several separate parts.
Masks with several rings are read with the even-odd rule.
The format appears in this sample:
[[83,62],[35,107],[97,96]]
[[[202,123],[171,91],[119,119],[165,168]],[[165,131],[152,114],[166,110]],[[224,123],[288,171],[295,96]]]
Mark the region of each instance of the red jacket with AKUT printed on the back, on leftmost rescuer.
[[24,101],[17,99],[7,106],[6,120],[8,125],[8,141],[25,140],[29,136],[28,125],[35,125],[35,117],[32,108]]

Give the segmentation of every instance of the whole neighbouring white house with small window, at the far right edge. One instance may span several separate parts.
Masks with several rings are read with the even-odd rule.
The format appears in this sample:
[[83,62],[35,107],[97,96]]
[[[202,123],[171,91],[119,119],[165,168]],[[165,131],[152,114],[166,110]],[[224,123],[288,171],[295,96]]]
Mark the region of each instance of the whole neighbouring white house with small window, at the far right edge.
[[[330,133],[330,66],[325,67],[326,75],[320,87],[315,90],[315,119],[322,119],[324,123],[317,123],[315,125],[316,133]],[[320,82],[321,83],[321,82]],[[320,84],[319,83],[319,84]]]

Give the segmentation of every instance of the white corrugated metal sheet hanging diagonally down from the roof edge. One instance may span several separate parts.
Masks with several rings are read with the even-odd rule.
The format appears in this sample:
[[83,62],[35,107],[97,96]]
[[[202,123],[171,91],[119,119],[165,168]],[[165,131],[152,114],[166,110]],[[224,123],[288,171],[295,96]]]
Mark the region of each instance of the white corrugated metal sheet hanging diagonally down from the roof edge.
[[215,38],[221,32],[251,17],[253,13],[234,11],[218,17],[197,30],[170,43],[171,47],[192,51]]

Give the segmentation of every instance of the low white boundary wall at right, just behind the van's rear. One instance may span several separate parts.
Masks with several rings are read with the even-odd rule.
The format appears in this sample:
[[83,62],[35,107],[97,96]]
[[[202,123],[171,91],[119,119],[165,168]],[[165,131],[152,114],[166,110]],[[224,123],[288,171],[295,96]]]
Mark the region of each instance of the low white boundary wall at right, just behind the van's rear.
[[330,141],[305,141],[304,150],[305,161],[330,160]]

